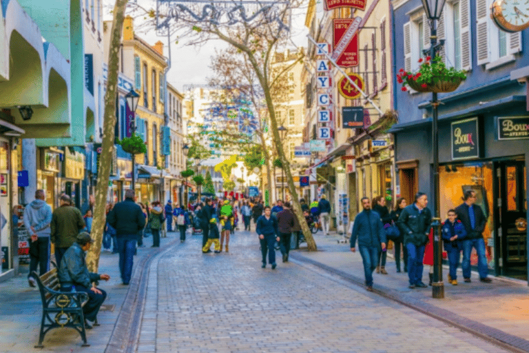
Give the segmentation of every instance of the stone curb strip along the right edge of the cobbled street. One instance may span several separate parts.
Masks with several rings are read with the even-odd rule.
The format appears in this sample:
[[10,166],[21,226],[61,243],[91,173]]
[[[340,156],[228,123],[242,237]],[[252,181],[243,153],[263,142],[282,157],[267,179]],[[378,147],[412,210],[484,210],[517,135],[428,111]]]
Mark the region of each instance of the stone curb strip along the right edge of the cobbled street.
[[[353,276],[352,274],[337,270],[329,265],[325,265],[324,263],[309,259],[300,254],[299,252],[291,252],[291,257],[302,263],[309,263],[318,268],[321,268],[322,270],[325,270],[326,272],[330,272],[332,274],[340,276],[342,279],[345,279],[346,281],[349,281],[351,283],[354,283],[355,285],[359,285],[360,287],[364,288],[364,279],[358,276]],[[490,327],[477,321],[466,319],[463,316],[459,316],[458,314],[455,314],[448,310],[444,310],[440,307],[436,307],[435,305],[424,303],[417,299],[403,297],[402,295],[397,294],[392,288],[385,287],[384,285],[377,284],[377,288],[374,289],[373,292],[379,294],[380,296],[384,296],[384,298],[386,299],[391,299],[392,301],[395,301],[402,305],[406,305],[407,307],[421,312],[422,314],[431,316],[433,317],[433,319],[443,321],[448,325],[452,325],[454,327],[459,328],[460,330],[478,336],[479,338],[484,339],[489,343],[498,345],[499,347],[505,350],[517,353],[529,352],[529,341],[521,339],[517,336],[513,336],[512,334],[508,334],[504,331],[497,330],[494,327]]]

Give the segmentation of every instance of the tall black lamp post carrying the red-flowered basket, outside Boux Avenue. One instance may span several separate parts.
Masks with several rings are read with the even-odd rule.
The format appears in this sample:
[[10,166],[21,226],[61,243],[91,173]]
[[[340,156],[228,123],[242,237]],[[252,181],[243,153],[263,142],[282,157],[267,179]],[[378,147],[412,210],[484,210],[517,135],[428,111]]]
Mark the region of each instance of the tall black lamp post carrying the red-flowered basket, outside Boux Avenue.
[[[430,49],[428,54],[432,59],[439,51],[439,48],[444,44],[444,41],[437,43],[437,21],[441,18],[444,8],[445,0],[422,0],[424,12],[430,20]],[[426,50],[425,50],[426,51]],[[433,193],[435,196],[435,205],[433,212],[433,282],[432,282],[432,297],[442,299],[444,298],[444,285],[442,273],[442,242],[441,242],[441,219],[439,217],[439,134],[437,132],[437,92],[432,92],[432,144],[433,144]]]

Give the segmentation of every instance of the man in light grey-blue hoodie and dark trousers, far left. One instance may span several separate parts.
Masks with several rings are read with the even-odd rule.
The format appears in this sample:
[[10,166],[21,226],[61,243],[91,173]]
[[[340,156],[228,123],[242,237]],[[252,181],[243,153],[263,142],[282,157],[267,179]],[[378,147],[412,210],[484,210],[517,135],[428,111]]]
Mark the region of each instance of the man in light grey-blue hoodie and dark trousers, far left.
[[44,200],[44,190],[37,190],[34,201],[25,207],[23,215],[25,229],[31,237],[30,273],[28,274],[28,283],[31,287],[37,285],[37,279],[33,274],[33,271],[37,271],[37,265],[40,267],[40,276],[50,270],[50,234],[52,232],[50,223],[53,212]]

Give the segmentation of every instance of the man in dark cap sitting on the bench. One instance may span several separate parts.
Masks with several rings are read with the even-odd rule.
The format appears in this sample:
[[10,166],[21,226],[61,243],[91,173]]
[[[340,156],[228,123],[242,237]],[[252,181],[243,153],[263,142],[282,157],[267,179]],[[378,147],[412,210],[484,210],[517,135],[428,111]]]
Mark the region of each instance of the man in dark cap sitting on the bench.
[[88,294],[88,302],[83,306],[85,316],[85,327],[92,328],[96,321],[97,313],[107,293],[104,290],[96,288],[92,282],[100,279],[108,281],[108,274],[96,274],[88,272],[86,267],[85,252],[90,249],[94,241],[87,232],[81,232],[76,236],[76,242],[66,250],[59,267],[59,282],[61,283],[61,292],[85,292]]

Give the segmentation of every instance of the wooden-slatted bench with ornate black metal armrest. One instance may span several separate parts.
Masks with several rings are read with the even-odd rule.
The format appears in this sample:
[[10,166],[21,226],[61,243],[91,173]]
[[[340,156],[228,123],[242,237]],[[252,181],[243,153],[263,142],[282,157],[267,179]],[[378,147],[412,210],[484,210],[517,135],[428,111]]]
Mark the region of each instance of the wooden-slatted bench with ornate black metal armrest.
[[72,327],[83,339],[83,347],[90,346],[86,342],[85,318],[83,305],[88,302],[88,294],[85,292],[61,292],[61,284],[57,269],[46,272],[39,277],[33,272],[39,284],[42,299],[42,321],[39,334],[39,344],[35,348],[44,347],[45,334],[57,327]]

